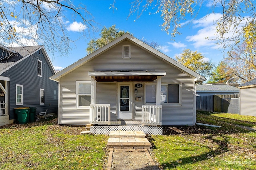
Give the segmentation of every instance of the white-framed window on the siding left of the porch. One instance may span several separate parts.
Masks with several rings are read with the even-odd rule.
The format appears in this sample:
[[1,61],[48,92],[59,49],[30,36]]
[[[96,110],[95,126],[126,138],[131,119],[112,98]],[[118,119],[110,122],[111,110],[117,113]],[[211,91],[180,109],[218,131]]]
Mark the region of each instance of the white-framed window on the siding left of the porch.
[[78,108],[88,108],[91,104],[91,82],[76,82],[76,106]]

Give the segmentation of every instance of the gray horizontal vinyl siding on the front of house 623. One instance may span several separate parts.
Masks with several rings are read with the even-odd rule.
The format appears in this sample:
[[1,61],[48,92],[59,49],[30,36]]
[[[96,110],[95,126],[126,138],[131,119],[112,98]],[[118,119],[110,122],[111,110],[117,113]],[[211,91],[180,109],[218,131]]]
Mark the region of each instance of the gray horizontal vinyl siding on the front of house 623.
[[[122,45],[131,45],[131,59],[122,59]],[[166,71],[166,76],[162,77],[162,83],[181,83],[182,98],[181,106],[162,106],[162,125],[194,125],[194,79],[166,63],[163,59],[153,56],[144,49],[130,43],[130,41],[119,43],[110,50],[102,53],[98,57],[94,57],[92,60],[60,78],[59,124],[89,123],[89,109],[76,109],[76,81],[91,81],[88,72],[100,70]],[[100,90],[100,84],[102,83],[110,85],[109,88],[105,86],[102,86],[102,88],[112,93],[110,95],[111,98],[98,92],[98,90]],[[96,104],[111,103],[112,105],[113,103],[113,106],[111,106],[111,119],[114,119],[115,112],[113,109],[116,107],[114,103],[116,94],[113,91],[113,84],[110,84],[110,82],[96,82],[96,87]],[[141,105],[144,104],[145,99],[143,88],[137,89],[138,95],[134,95],[134,120],[140,121]],[[100,92],[103,92],[103,90],[100,90]],[[136,96],[142,96],[143,102],[135,101]]]

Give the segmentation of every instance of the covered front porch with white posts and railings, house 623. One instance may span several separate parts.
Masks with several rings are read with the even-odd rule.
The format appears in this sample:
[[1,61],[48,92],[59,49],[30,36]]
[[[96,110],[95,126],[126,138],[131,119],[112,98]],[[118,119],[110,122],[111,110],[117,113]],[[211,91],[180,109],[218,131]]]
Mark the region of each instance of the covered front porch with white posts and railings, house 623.
[[[88,74],[91,76],[91,124],[162,125],[161,78],[166,72],[101,71]],[[151,103],[146,101],[144,85],[154,86],[154,90],[147,91],[154,100]]]

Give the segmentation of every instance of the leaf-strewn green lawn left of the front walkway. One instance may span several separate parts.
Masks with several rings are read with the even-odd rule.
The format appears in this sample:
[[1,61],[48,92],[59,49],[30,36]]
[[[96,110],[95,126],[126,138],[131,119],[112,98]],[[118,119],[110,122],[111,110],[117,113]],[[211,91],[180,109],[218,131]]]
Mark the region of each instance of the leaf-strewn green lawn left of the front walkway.
[[0,169],[103,169],[108,136],[80,135],[81,130],[81,127],[36,123],[2,128]]

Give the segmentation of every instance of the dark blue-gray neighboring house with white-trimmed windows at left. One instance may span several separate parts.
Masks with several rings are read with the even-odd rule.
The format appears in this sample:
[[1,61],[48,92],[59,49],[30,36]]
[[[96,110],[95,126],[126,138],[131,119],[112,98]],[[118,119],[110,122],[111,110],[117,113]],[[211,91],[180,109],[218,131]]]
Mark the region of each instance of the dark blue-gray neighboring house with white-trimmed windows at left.
[[58,109],[58,83],[49,79],[55,71],[43,46],[0,45],[0,125],[17,119],[14,108],[36,107],[36,113]]

